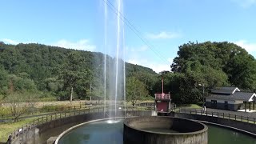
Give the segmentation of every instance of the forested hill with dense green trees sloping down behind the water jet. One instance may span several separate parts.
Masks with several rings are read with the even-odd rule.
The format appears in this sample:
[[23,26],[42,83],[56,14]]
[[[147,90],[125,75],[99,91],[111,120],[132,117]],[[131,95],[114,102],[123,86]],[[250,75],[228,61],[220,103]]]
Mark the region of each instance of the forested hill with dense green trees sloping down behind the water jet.
[[[6,91],[13,89],[50,91],[56,94],[55,92],[60,89],[58,81],[61,77],[59,71],[62,71],[60,69],[66,69],[65,66],[71,65],[74,70],[79,71],[77,75],[74,75],[76,77],[84,75],[85,78],[83,79],[87,81],[83,84],[80,83],[79,86],[89,88],[89,81],[90,83],[93,81],[93,85],[97,86],[98,80],[95,78],[103,77],[103,59],[102,53],[70,50],[42,44],[21,43],[14,46],[1,42],[0,93],[6,93]],[[115,59],[107,56],[107,60],[111,65]],[[158,75],[150,68],[126,62],[126,76],[130,77],[138,73]],[[83,95],[81,97],[86,96],[86,90],[79,89],[76,91],[81,91],[80,93]]]

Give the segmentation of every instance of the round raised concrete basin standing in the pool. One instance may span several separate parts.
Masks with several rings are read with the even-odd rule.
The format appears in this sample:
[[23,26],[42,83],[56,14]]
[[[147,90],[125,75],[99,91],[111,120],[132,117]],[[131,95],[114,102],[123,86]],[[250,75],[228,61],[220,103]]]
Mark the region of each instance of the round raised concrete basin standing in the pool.
[[206,144],[208,127],[173,117],[135,117],[124,122],[125,144]]

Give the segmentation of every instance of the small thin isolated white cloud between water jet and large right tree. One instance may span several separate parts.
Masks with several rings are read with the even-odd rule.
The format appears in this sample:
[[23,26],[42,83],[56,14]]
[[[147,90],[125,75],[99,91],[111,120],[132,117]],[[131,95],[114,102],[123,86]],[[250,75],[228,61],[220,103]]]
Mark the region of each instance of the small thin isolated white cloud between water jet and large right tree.
[[159,34],[146,34],[146,38],[150,39],[171,39],[171,38],[179,38],[181,37],[181,34],[178,33],[171,33],[162,31]]

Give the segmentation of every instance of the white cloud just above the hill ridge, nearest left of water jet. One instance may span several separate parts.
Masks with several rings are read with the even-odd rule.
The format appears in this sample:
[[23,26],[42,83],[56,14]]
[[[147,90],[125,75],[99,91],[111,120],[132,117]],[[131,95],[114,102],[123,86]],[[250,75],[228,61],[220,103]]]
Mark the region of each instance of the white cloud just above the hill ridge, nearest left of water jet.
[[96,50],[96,46],[90,44],[90,41],[88,39],[81,39],[78,42],[70,42],[65,39],[62,39],[62,40],[59,40],[58,42],[54,42],[51,45],[65,47],[65,48],[74,49],[74,50],[89,50],[89,51]]

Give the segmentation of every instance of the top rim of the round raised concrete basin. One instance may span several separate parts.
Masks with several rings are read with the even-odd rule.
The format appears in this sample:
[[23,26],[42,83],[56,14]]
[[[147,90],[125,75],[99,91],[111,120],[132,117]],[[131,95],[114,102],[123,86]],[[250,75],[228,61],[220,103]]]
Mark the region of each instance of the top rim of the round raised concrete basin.
[[[158,117],[158,116],[151,116],[151,117]],[[165,117],[165,118],[176,118],[176,117],[170,117],[170,116],[161,116],[161,117]],[[204,123],[202,122],[198,122],[192,119],[187,119],[187,118],[177,118],[177,119],[183,119],[183,120],[187,120],[187,121],[192,121],[192,122],[197,122],[199,124],[201,124],[202,126],[204,126],[204,128],[202,130],[198,130],[198,131],[194,131],[194,132],[188,132],[188,133],[162,133],[162,132],[155,132],[155,131],[150,131],[150,130],[140,130],[137,128],[134,128],[133,126],[130,126],[127,124],[126,120],[124,121],[124,125],[130,127],[131,129],[134,130],[138,130],[138,131],[142,131],[142,132],[146,132],[146,133],[150,133],[150,134],[162,134],[162,135],[190,135],[190,134],[201,134],[203,132],[206,132],[208,130],[208,126],[206,126]]]

